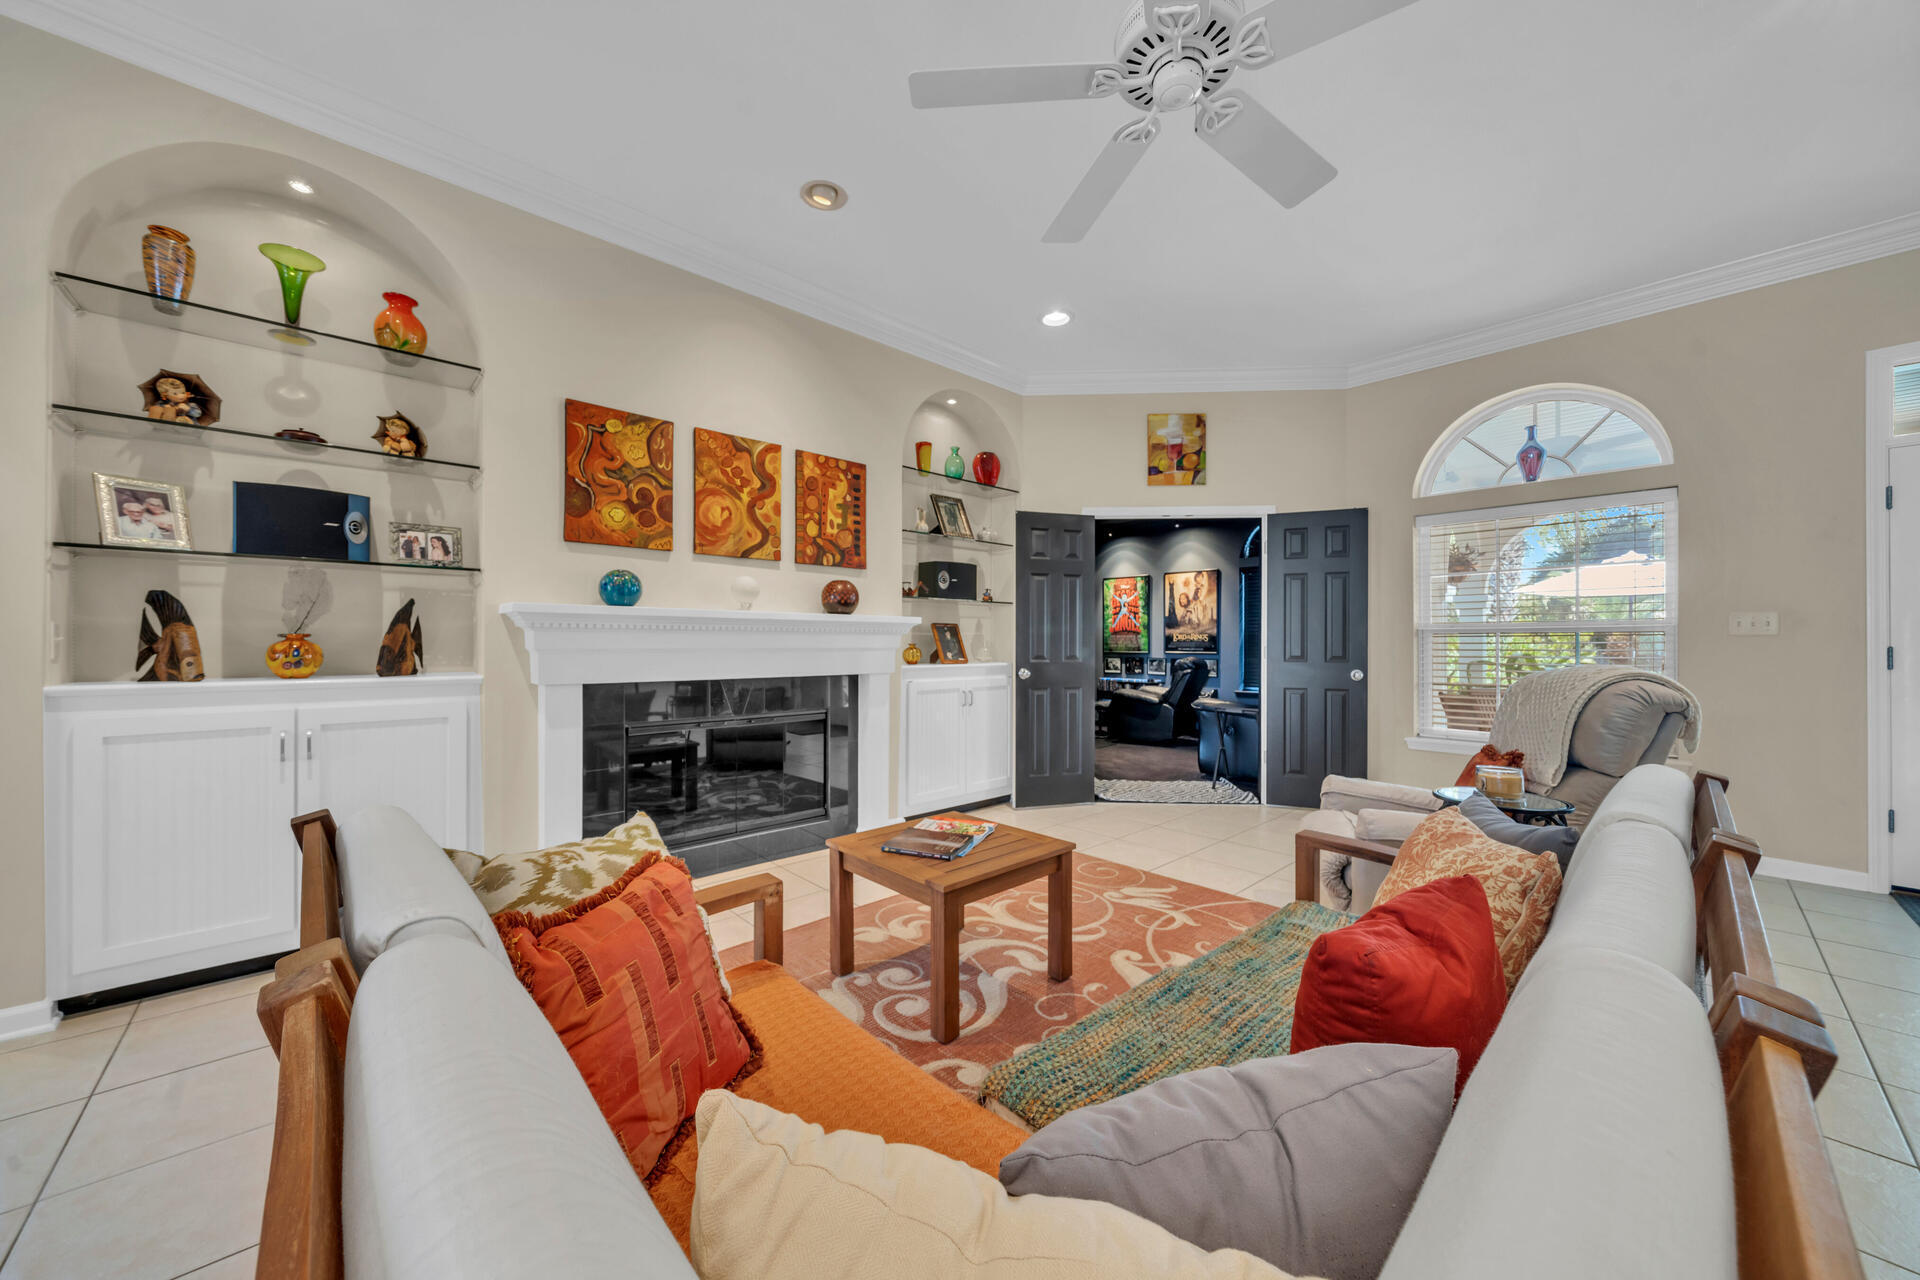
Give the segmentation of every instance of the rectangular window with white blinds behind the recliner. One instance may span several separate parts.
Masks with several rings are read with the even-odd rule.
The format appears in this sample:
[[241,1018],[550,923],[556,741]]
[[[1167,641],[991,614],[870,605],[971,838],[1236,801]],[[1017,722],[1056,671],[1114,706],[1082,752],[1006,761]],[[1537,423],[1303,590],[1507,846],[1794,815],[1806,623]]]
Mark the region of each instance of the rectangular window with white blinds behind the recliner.
[[1676,676],[1678,489],[1421,516],[1421,737],[1486,741],[1521,676],[1574,662]]

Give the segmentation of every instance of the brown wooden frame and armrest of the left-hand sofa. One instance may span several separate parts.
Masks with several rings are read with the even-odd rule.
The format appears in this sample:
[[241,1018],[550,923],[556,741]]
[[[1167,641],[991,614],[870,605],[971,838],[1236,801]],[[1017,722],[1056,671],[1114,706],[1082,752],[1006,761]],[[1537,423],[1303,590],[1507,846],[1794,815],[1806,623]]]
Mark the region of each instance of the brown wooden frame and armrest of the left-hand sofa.
[[[280,1057],[273,1165],[261,1211],[257,1280],[344,1280],[340,1157],[342,1069],[359,975],[340,938],[338,831],[319,810],[294,819],[300,844],[300,950],[259,994],[259,1021]],[[693,890],[708,912],[753,908],[753,958],[783,958],[783,896],[774,875],[743,875]]]

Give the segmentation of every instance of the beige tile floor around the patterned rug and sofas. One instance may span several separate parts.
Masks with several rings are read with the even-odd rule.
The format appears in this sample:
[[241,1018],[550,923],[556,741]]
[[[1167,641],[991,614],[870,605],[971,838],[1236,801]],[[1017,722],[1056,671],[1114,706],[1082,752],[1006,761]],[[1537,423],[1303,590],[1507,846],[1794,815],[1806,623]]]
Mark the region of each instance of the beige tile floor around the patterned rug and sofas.
[[[1306,810],[1098,804],[983,810],[1098,858],[1292,902]],[[758,869],[758,867],[756,867]],[[787,927],[828,913],[826,854],[774,864]],[[726,877],[714,877],[726,879]],[[883,896],[854,881],[858,902]],[[1839,1044],[1820,1123],[1874,1280],[1920,1274],[1920,927],[1887,898],[1761,883],[1782,981]],[[745,912],[714,919],[745,942]],[[0,1042],[0,1280],[244,1280],[273,1140],[267,975],[198,986]]]

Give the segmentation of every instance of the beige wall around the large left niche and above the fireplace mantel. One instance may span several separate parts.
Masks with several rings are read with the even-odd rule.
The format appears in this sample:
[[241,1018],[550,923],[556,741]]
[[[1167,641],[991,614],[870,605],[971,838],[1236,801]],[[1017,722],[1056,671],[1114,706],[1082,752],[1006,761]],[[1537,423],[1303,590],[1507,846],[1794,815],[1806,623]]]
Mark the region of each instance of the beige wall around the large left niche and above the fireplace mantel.
[[[503,601],[595,601],[599,576],[630,566],[645,603],[728,606],[739,572],[760,580],[758,608],[820,606],[833,576],[691,553],[691,428],[741,432],[870,466],[870,568],[862,608],[899,612],[899,459],[916,409],[935,391],[975,393],[1020,428],[1020,399],[699,276],[482,200],[219,102],[27,27],[0,21],[0,1009],[42,996],[40,683],[48,662],[50,315],[46,273],[71,228],[69,190],[106,163],[175,142],[232,142],[309,161],[367,188],[409,219],[459,273],[480,344],[480,453],[486,574],[478,589],[486,676],[486,841],[534,839],[534,691]],[[797,215],[804,215],[795,207]],[[190,230],[190,228],[188,228]],[[129,244],[138,271],[138,244]],[[261,263],[261,271],[271,271]],[[319,276],[309,297],[324,284]],[[207,286],[211,288],[211,286]],[[196,286],[196,299],[200,288]],[[207,301],[217,301],[211,296]],[[367,309],[365,322],[372,322]],[[349,330],[351,332],[351,330]],[[238,365],[244,380],[250,365]],[[561,403],[618,405],[678,422],[676,545],[624,553],[561,541]],[[791,505],[791,482],[787,484]],[[138,610],[127,604],[131,629]],[[336,628],[349,626],[340,616]],[[384,616],[367,620],[371,635]],[[319,637],[324,643],[324,635]],[[255,672],[242,670],[252,676]],[[891,754],[891,752],[889,752]]]

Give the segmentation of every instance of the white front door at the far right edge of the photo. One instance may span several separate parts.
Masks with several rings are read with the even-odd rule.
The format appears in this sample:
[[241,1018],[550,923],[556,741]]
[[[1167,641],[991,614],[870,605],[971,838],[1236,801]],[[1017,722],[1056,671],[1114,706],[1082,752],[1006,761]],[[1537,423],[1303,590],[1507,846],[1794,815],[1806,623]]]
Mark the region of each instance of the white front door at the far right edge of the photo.
[[1893,672],[1887,762],[1893,883],[1920,889],[1920,445],[1887,451],[1893,510],[1887,512],[1887,620]]

